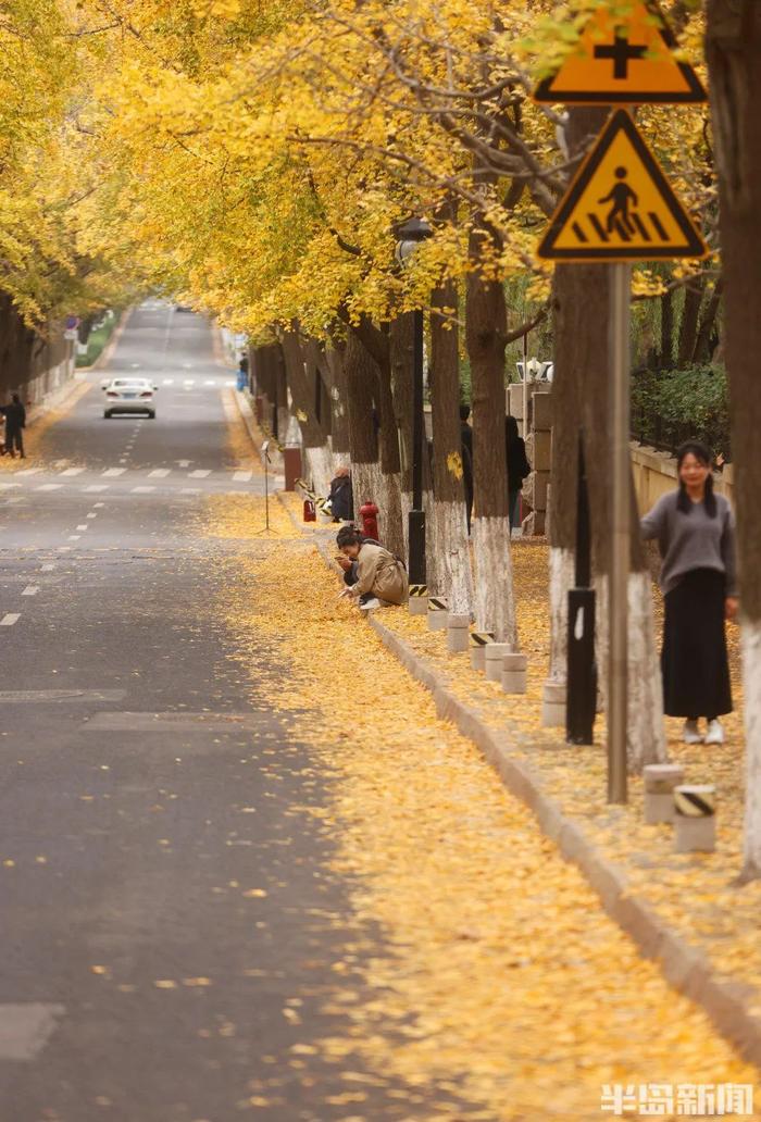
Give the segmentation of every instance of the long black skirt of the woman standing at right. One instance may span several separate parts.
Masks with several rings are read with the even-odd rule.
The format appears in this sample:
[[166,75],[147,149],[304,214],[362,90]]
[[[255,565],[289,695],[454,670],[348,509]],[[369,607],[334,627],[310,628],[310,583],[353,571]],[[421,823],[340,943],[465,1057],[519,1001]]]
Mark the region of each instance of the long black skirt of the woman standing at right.
[[694,569],[664,597],[661,670],[669,717],[718,717],[732,711],[725,596],[724,573]]

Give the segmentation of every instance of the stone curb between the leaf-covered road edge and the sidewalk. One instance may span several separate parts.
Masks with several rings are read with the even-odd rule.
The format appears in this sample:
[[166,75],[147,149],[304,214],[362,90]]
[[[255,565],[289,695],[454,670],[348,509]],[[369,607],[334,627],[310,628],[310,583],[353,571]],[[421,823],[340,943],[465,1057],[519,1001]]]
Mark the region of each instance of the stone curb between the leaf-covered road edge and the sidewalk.
[[[282,499],[281,505],[294,526],[301,530]],[[328,568],[338,573],[326,543],[315,539],[314,545]],[[512,756],[508,734],[488,728],[474,709],[446,688],[435,670],[409,643],[374,614],[367,613],[367,616],[384,646],[430,690],[439,717],[451,721],[473,741],[504,787],[533,812],[542,834],[554,842],[566,861],[580,870],[607,916],[633,939],[645,958],[658,963],[675,990],[706,1012],[717,1031],[744,1059],[761,1067],[761,1018],[750,1012],[751,1005],[759,1004],[758,992],[744,982],[722,981],[700,950],[690,947],[648,903],[632,895],[625,873],[603,856],[578,822],[562,813],[559,804],[543,791],[541,779],[531,765]]]

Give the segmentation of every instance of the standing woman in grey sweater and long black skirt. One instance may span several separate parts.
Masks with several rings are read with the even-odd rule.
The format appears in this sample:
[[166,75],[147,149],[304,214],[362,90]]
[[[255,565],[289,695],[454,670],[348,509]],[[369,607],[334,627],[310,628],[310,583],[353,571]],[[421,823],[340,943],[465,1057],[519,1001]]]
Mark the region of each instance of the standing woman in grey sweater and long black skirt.
[[723,714],[732,711],[724,619],[737,613],[734,516],[714,493],[710,453],[688,441],[677,453],[679,487],[642,518],[642,536],[657,539],[666,603],[661,670],[664,711],[685,717],[682,738],[723,744]]

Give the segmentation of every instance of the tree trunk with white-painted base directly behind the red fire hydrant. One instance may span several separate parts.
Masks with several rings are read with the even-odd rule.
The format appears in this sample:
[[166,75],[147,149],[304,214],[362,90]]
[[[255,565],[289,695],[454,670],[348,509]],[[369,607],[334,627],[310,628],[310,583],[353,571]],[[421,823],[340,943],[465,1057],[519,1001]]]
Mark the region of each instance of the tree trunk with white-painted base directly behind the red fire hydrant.
[[[383,480],[378,462],[378,439],[373,402],[373,388],[378,376],[378,368],[352,328],[349,328],[348,331],[343,370],[349,414],[355,518],[359,519],[359,507],[364,503],[372,500],[380,507]],[[383,539],[385,532],[383,518],[379,519],[378,532]]]

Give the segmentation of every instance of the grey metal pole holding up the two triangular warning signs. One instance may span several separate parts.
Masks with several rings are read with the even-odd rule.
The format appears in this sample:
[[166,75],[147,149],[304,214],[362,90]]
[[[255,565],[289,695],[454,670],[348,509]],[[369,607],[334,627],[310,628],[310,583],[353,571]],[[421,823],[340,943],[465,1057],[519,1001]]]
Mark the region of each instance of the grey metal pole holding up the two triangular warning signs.
[[611,577],[608,582],[607,801],[626,802],[631,266],[611,266]]

